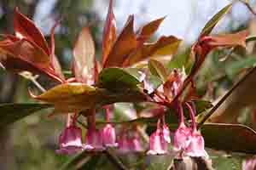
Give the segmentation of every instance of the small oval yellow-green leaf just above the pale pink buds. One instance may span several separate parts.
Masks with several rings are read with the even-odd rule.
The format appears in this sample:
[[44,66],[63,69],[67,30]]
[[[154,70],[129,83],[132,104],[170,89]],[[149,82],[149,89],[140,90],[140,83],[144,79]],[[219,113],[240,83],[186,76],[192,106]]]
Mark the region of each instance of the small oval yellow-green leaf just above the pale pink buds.
[[151,74],[156,77],[160,77],[161,80],[166,82],[166,79],[168,78],[168,72],[166,71],[165,66],[162,65],[158,60],[150,59],[148,61],[148,68]]

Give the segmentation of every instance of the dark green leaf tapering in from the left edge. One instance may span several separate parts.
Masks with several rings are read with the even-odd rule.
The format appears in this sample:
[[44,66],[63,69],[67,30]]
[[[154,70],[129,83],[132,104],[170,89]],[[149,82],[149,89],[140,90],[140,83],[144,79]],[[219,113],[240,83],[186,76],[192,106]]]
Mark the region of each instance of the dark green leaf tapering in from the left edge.
[[0,127],[5,127],[16,122],[25,116],[29,116],[36,111],[41,111],[52,107],[46,104],[1,104],[0,105]]

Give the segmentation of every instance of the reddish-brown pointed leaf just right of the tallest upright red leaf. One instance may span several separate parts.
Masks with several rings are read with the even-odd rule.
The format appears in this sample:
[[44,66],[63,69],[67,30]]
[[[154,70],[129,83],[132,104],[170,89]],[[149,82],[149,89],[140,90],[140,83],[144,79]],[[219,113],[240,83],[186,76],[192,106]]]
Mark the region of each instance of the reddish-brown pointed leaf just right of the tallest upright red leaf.
[[108,54],[103,67],[121,66],[131,51],[137,48],[137,37],[133,31],[134,16],[130,15],[124,29]]

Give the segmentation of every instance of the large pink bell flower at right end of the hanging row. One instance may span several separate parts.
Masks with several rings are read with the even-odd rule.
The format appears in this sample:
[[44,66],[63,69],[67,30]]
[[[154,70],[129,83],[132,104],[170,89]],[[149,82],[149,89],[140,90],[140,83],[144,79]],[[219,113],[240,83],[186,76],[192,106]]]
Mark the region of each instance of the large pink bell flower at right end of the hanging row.
[[205,141],[201,133],[196,130],[189,137],[189,145],[185,149],[185,155],[191,157],[209,157],[205,150]]

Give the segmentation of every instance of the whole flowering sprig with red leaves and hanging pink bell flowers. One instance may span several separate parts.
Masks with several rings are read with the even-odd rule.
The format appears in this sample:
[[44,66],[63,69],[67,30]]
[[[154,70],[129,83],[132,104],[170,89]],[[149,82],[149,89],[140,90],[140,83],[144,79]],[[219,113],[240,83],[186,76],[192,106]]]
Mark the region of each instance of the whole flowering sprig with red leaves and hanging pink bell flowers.
[[[192,45],[191,57],[195,59],[195,64],[187,76],[184,68],[170,71],[160,60],[150,59],[172,56],[177,52],[180,42],[177,37],[163,36],[156,42],[148,42],[164,18],[153,20],[139,31],[134,31],[134,18],[131,15],[117,37],[112,3],[111,0],[103,29],[102,62],[96,60],[90,29],[84,27],[73,48],[73,77],[66,79],[55,57],[55,26],[49,47],[32,20],[15,8],[15,36],[5,35],[0,41],[2,66],[19,73],[30,71],[32,74],[44,74],[60,83],[38,96],[31,92],[33,98],[54,105],[55,112],[67,115],[67,125],[59,137],[57,153],[73,154],[80,150],[105,150],[108,147],[116,148],[119,153],[141,152],[145,151],[144,145],[148,142],[148,155],[172,153],[177,157],[207,158],[205,142],[195,117],[194,99],[198,99],[195,75],[213,48],[245,46],[247,31],[213,36],[204,31]],[[149,60],[147,66],[142,66],[144,60]],[[138,63],[142,65],[137,66]],[[143,109],[154,105],[147,114],[151,122],[143,122],[148,127],[156,125],[154,133],[149,135],[149,141],[143,141],[142,133],[138,130],[141,129],[138,119],[144,118],[140,113],[136,114],[135,123],[119,122],[120,128],[110,120],[113,117],[113,104],[137,101],[146,103],[143,103],[146,105]],[[170,114],[167,110],[170,109],[177,112],[179,119],[173,132],[168,127],[169,120],[166,120],[166,115]],[[184,117],[185,109],[189,112],[190,122]],[[106,112],[106,121],[102,122],[104,126],[101,128],[96,120],[99,110]],[[87,120],[84,140],[82,128],[78,126],[79,116]]]

